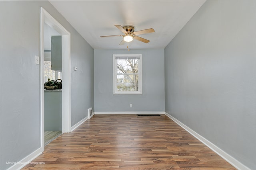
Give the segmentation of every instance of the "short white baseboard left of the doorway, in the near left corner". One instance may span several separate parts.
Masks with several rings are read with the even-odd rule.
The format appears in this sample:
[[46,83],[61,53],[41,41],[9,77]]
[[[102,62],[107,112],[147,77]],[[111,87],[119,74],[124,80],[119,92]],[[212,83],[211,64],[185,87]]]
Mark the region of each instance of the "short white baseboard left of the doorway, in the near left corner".
[[[15,162],[15,164],[13,166],[11,166],[10,168],[8,168],[7,170],[19,170],[21,168],[23,168],[24,166],[26,166],[27,164],[29,164],[32,160],[34,160],[37,156],[39,156],[40,154],[42,154],[42,148],[38,148],[37,150],[35,150],[34,152],[32,152],[31,154],[29,154],[28,156],[26,156],[25,158],[23,158],[20,161]],[[6,162],[7,164],[8,162]],[[10,164],[13,164],[14,162],[9,162]],[[44,163],[44,162],[35,162],[35,163]]]

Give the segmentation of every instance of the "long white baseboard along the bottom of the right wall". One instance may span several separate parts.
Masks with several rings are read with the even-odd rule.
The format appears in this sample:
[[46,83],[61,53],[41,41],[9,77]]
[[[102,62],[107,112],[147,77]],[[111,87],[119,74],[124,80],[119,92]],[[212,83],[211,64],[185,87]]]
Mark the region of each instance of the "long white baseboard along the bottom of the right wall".
[[199,135],[198,133],[196,133],[186,125],[184,125],[182,122],[178,121],[176,118],[172,117],[168,113],[165,113],[165,115],[168,116],[170,119],[172,119],[174,122],[176,122],[178,125],[180,125],[183,129],[188,131],[188,133],[196,137],[196,139],[204,143],[204,145],[206,145],[211,150],[216,152],[216,154],[221,156],[224,160],[226,160],[228,163],[230,163],[232,166],[234,166],[238,170],[250,170],[250,168],[248,168],[247,166],[245,166],[244,164],[242,164],[241,162],[239,162],[238,160],[230,156],[228,153],[224,152],[222,149],[218,148],[216,145],[214,145],[213,143],[211,143],[210,141],[208,141],[207,139],[205,139],[204,137],[202,137],[201,135]]

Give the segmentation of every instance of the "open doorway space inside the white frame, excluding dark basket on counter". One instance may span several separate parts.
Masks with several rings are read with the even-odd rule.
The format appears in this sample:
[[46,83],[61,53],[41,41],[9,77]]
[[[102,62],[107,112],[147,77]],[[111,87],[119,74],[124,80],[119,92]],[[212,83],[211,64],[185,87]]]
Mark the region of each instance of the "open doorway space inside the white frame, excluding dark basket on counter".
[[[61,44],[60,33],[44,23],[44,82],[62,80]],[[62,89],[44,89],[44,145],[61,134]]]

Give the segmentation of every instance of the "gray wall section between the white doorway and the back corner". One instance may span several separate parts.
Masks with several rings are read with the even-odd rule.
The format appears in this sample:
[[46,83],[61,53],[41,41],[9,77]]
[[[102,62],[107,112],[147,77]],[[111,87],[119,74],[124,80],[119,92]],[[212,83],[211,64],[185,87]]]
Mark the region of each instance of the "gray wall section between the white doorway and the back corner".
[[71,127],[90,107],[94,109],[94,49],[80,34],[71,33]]

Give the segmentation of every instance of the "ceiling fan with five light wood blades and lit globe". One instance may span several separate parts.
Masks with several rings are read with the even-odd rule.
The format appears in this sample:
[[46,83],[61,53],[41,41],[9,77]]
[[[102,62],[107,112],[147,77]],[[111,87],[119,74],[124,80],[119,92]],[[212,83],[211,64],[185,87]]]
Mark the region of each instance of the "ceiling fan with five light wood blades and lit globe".
[[155,30],[153,28],[144,29],[144,30],[140,30],[140,31],[134,31],[134,26],[132,26],[132,25],[125,25],[123,27],[121,25],[115,25],[115,26],[118,29],[120,29],[120,31],[122,31],[124,33],[124,35],[107,35],[107,36],[100,36],[100,37],[122,36],[123,40],[121,41],[121,43],[119,45],[122,45],[125,42],[131,42],[133,39],[142,41],[143,43],[148,43],[149,42],[148,39],[144,39],[142,37],[138,37],[137,35],[155,32]]

